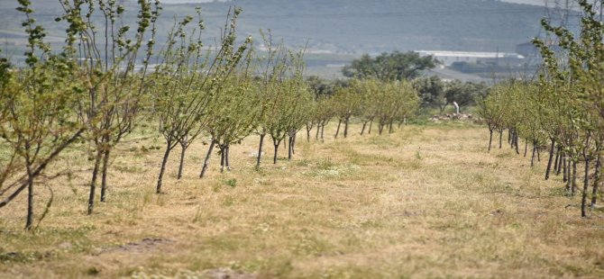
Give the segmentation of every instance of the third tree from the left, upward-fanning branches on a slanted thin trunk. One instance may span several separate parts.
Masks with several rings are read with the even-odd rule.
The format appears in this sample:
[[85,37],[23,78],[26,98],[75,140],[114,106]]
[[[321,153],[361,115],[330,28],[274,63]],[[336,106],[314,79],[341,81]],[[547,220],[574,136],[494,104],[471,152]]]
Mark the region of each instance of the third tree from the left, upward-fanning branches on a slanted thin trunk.
[[161,193],[170,152],[186,140],[187,144],[182,149],[185,152],[186,146],[206,128],[206,116],[210,115],[212,101],[216,94],[221,93],[222,86],[228,84],[250,49],[250,37],[235,47],[235,27],[240,13],[240,8],[234,8],[233,13],[227,14],[220,44],[211,52],[204,51],[201,40],[204,23],[197,8],[197,26],[188,30],[188,23],[193,18],[185,17],[170,32],[166,46],[160,53],[162,64],[156,69],[152,88],[154,111],[160,120],[160,133],[166,140],[166,148],[156,193]]

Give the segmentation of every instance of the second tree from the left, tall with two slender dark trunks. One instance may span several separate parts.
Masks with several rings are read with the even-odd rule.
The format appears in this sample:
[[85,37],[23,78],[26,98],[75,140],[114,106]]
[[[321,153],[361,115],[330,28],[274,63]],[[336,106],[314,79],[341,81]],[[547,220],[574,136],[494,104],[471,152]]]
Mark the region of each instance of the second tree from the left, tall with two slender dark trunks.
[[[79,78],[86,85],[78,97],[78,118],[87,125],[93,147],[88,214],[94,210],[97,176],[102,174],[101,201],[105,201],[111,150],[133,130],[145,94],[147,66],[152,55],[155,22],[160,2],[140,0],[135,31],[124,25],[124,6],[115,1],[66,0],[59,2],[69,23],[67,57],[79,63]],[[103,24],[96,24],[96,17]],[[146,41],[146,46],[143,42]],[[141,53],[141,49],[146,47]],[[142,55],[142,61],[139,56]],[[142,64],[140,72],[135,71]]]

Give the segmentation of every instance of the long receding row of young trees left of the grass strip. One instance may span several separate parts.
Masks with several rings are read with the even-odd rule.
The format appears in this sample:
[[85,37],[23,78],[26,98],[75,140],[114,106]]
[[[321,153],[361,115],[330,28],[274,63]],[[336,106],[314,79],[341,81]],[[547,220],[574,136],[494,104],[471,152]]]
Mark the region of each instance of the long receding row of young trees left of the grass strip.
[[[347,137],[351,118],[358,117],[361,133],[371,132],[374,123],[380,133],[392,131],[419,103],[406,80],[352,79],[322,94],[303,78],[303,51],[273,43],[270,33],[262,38],[264,52],[254,51],[251,37],[238,39],[239,8],[226,15],[220,38],[206,45],[199,9],[176,21],[168,40],[158,43],[159,1],[138,1],[133,26],[123,25],[124,6],[116,1],[59,1],[64,14],[56,20],[69,27],[66,46],[53,51],[31,2],[18,3],[29,36],[27,65],[0,59],[0,208],[27,193],[26,229],[34,228],[38,185],[52,193],[47,182],[73,171],[48,171],[66,150],[91,161],[87,213],[95,210],[98,188],[105,202],[112,152],[143,121],[157,125],[164,139],[155,185],[162,193],[169,156],[179,149],[180,179],[188,147],[202,136],[210,140],[199,177],[215,150],[221,172],[228,171],[230,147],[251,135],[260,139],[256,167],[265,139],[276,164],[282,144],[288,158],[293,156],[302,129],[308,140],[313,129],[315,138],[323,139],[325,125],[337,120],[334,137]],[[95,24],[98,18],[102,24]]]

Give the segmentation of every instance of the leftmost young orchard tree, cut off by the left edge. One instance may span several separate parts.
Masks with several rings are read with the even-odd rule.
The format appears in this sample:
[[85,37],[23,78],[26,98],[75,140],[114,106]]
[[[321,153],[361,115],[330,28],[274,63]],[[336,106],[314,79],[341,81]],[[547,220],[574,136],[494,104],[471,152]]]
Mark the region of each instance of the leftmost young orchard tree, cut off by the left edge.
[[83,86],[74,80],[74,61],[64,53],[52,54],[43,41],[46,32],[34,24],[30,1],[19,4],[26,18],[27,67],[16,69],[0,59],[0,147],[5,155],[0,159],[0,207],[27,189],[25,229],[31,230],[35,182],[48,178],[42,176],[47,166],[84,131],[72,111]]

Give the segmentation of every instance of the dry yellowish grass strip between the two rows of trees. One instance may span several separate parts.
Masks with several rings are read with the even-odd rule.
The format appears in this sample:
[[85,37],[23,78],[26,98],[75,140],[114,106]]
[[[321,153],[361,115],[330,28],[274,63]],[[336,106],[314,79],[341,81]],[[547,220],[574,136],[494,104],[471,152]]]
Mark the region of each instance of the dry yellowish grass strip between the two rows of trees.
[[[149,148],[160,140],[131,140],[92,216],[86,173],[50,184],[35,234],[23,232],[24,194],[0,211],[0,277],[604,277],[604,212],[581,219],[560,177],[542,179],[545,162],[489,154],[487,140],[462,124],[325,143],[301,133],[291,162],[270,164],[267,144],[255,171],[251,137],[232,148],[231,172],[213,157],[203,180],[198,143],[181,181],[172,156],[160,195],[161,150]],[[73,152],[56,167],[67,164],[87,161]]]

